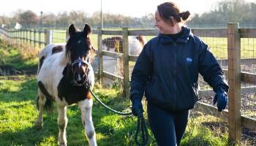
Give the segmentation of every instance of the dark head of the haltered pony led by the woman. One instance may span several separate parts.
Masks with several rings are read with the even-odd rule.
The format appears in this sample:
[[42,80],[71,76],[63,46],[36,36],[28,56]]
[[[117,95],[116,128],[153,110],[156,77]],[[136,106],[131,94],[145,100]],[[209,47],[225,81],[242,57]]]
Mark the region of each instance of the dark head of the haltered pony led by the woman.
[[86,24],[83,31],[78,31],[72,24],[69,26],[69,39],[66,45],[66,56],[70,60],[75,84],[83,85],[88,81],[89,66],[94,55],[91,45],[91,27]]

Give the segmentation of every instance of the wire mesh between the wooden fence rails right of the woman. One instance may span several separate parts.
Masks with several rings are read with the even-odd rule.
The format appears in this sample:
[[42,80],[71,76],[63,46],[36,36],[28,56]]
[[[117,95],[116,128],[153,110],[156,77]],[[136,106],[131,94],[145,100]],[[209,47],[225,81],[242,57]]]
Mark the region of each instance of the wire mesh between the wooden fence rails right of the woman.
[[[211,47],[211,51],[214,53],[214,56],[218,59],[219,64],[221,64],[222,69],[228,69],[227,62],[227,34],[199,34],[201,39],[206,42],[209,47]],[[239,34],[240,36],[242,34]],[[246,34],[249,38],[241,38],[241,72],[256,74],[256,34]],[[217,38],[215,38],[218,36]],[[226,76],[228,81],[228,78]],[[250,80],[251,78],[249,78]],[[206,82],[203,81],[203,77],[199,79],[200,89],[203,91],[201,93],[201,102],[206,104],[212,104],[214,98],[214,92],[207,85]],[[228,107],[227,107],[228,110]],[[195,110],[194,110],[195,112]],[[208,111],[211,112],[211,111]],[[218,115],[216,113],[215,115]],[[195,118],[200,118],[197,115]],[[254,84],[248,82],[241,82],[241,115],[246,116],[247,118],[256,119],[256,86]],[[201,123],[203,126],[211,128],[215,132],[219,133],[219,135],[225,135],[227,133],[228,123],[225,120],[220,118],[209,118],[209,115],[203,114],[204,122]],[[217,117],[217,116],[215,116]],[[199,121],[199,120],[197,120]],[[240,123],[242,126],[241,129],[241,142],[243,145],[256,145],[256,128],[246,128],[249,127],[245,123]]]

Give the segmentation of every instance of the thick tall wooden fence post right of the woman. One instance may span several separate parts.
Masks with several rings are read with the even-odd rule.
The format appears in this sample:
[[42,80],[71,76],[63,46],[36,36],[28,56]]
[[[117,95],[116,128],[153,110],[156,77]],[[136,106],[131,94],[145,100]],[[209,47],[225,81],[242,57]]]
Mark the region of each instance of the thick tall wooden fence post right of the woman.
[[228,133],[232,142],[241,140],[241,38],[238,23],[227,23]]

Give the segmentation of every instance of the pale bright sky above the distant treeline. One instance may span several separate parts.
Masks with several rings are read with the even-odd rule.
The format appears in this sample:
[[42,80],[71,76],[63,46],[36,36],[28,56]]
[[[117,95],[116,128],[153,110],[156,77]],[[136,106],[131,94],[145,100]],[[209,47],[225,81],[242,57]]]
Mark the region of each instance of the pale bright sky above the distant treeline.
[[[80,10],[89,14],[100,10],[101,0],[7,0],[1,3],[0,15],[14,15],[18,9],[32,10],[38,15],[40,12],[58,12]],[[148,13],[154,13],[158,4],[167,0],[102,0],[103,12],[113,14],[141,17]],[[189,10],[193,13],[207,12],[214,8],[214,4],[221,0],[173,0],[181,10]],[[256,0],[246,0],[253,1]]]

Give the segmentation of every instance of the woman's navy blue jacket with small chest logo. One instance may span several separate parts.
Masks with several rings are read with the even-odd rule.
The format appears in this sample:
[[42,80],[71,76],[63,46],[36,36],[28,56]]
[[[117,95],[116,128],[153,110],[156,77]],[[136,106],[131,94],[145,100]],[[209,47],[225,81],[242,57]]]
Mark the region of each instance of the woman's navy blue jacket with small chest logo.
[[132,71],[131,99],[171,111],[190,110],[198,101],[198,73],[214,91],[228,90],[225,74],[208,45],[189,28],[174,41],[165,34],[151,39]]

